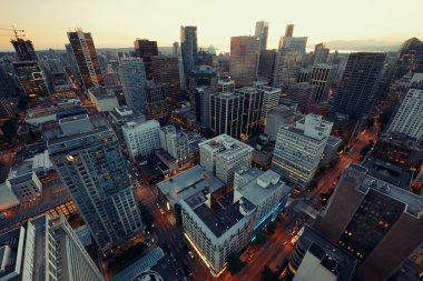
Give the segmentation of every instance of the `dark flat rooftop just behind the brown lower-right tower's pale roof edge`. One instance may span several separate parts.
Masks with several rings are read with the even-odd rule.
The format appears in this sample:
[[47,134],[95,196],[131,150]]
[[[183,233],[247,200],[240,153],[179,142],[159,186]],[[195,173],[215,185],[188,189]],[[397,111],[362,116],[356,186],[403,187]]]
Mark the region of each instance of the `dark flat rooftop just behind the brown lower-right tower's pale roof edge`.
[[411,170],[371,157],[366,157],[362,165],[366,168],[368,174],[374,178],[386,181],[401,189],[410,190],[413,179],[413,172]]

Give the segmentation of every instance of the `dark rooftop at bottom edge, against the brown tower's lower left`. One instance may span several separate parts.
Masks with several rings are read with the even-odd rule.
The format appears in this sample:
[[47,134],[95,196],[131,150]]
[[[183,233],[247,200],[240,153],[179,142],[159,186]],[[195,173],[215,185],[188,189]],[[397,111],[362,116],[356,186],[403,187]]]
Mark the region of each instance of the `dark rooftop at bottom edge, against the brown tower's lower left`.
[[[305,227],[298,241],[303,247],[321,260],[321,265],[334,273],[338,281],[352,280],[356,259],[345,252],[342,248],[329,242],[316,230]],[[301,268],[301,265],[299,265]]]

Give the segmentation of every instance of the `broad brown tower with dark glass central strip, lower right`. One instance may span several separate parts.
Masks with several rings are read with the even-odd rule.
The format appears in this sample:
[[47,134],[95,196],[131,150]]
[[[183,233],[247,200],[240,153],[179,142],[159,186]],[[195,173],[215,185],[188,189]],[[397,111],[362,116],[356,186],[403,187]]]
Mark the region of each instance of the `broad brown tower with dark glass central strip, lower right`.
[[422,242],[423,198],[412,172],[376,159],[350,163],[314,228],[361,261],[357,280],[387,280]]

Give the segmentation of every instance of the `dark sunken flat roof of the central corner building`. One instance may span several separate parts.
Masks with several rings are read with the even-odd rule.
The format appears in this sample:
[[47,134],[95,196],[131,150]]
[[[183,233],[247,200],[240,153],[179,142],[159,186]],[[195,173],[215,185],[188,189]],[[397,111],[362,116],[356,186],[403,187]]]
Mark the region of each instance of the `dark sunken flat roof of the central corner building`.
[[[244,218],[239,212],[239,202],[233,203],[233,193],[228,193],[212,204],[210,208],[206,204],[199,204],[193,209],[216,238],[219,238]],[[186,202],[189,204],[189,199]]]

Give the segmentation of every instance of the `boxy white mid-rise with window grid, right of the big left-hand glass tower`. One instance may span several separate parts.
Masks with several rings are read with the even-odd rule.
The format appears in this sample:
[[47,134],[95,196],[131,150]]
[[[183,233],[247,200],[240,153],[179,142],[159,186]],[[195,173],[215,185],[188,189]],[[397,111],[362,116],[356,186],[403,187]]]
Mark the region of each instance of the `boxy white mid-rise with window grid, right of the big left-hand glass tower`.
[[160,147],[160,123],[156,120],[146,122],[127,122],[122,127],[122,134],[130,158],[148,155]]

